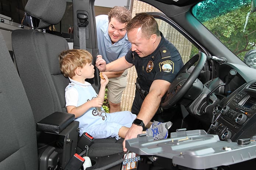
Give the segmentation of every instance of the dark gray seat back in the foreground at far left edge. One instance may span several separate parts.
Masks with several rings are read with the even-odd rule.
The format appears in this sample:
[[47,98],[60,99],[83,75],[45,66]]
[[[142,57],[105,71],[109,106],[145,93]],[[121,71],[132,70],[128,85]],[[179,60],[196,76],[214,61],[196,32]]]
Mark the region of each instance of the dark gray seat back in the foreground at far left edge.
[[0,169],[36,170],[35,120],[0,31]]

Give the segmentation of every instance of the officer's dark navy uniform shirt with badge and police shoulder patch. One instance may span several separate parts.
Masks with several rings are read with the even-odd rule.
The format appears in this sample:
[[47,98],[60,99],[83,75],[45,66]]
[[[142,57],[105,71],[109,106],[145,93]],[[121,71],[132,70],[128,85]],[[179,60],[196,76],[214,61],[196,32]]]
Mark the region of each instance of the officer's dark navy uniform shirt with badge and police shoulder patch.
[[146,91],[149,91],[154,80],[166,80],[171,83],[183,66],[178,50],[165,39],[162,33],[161,41],[151,55],[141,58],[130,49],[125,59],[135,66],[138,75],[137,83]]

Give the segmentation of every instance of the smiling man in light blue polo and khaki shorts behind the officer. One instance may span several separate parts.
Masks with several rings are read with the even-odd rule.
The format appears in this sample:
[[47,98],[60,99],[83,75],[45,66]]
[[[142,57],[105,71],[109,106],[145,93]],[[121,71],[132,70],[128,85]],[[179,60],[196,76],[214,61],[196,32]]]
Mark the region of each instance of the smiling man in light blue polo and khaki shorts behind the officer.
[[[99,55],[106,63],[123,57],[130,50],[131,44],[126,35],[126,23],[131,20],[131,13],[125,7],[115,6],[109,15],[98,15],[96,18]],[[126,87],[127,70],[104,72],[108,76],[108,101],[110,112],[121,111],[121,97]]]

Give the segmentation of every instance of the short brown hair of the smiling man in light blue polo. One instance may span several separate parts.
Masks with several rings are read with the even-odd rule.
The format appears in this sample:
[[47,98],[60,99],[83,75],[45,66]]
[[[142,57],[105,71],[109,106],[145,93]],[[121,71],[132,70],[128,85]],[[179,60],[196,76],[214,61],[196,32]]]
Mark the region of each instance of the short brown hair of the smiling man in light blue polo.
[[131,20],[131,12],[125,7],[115,6],[108,14],[108,21],[115,18],[120,23],[127,23]]

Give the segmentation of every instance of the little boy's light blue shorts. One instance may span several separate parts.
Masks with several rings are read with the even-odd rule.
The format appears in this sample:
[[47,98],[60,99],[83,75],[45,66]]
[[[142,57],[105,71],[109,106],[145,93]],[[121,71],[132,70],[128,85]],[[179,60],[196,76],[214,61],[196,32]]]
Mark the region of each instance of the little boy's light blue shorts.
[[92,126],[87,130],[87,133],[95,139],[115,137],[116,140],[119,140],[119,129],[122,126],[131,127],[131,124],[136,117],[136,115],[129,111],[107,113],[106,122]]

